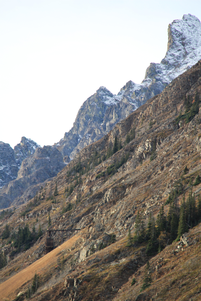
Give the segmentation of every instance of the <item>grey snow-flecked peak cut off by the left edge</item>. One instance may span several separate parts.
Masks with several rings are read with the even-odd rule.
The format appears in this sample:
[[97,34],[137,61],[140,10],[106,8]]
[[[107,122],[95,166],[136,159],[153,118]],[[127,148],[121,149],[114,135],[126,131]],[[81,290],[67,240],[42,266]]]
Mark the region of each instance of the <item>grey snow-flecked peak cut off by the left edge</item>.
[[17,178],[15,153],[8,143],[0,141],[0,188]]

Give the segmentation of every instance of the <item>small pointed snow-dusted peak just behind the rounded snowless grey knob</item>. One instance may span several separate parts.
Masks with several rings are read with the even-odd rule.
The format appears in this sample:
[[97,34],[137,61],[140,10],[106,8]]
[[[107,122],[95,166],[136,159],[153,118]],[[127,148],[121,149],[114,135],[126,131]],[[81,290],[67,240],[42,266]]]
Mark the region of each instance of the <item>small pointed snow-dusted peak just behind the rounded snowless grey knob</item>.
[[35,141],[22,137],[20,143],[14,147],[15,159],[19,168],[22,164],[22,161],[32,155],[37,147],[41,147]]

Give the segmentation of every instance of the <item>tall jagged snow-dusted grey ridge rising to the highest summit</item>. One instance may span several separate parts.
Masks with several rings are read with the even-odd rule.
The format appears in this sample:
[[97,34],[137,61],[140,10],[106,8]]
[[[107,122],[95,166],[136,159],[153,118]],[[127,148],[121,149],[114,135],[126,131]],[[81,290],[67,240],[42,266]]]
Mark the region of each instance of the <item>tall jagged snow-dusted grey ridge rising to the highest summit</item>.
[[168,26],[168,51],[160,64],[151,63],[141,84],[132,81],[113,95],[100,87],[79,109],[72,129],[55,144],[63,157],[74,157],[84,146],[97,141],[112,130],[179,74],[201,59],[201,23],[190,14]]

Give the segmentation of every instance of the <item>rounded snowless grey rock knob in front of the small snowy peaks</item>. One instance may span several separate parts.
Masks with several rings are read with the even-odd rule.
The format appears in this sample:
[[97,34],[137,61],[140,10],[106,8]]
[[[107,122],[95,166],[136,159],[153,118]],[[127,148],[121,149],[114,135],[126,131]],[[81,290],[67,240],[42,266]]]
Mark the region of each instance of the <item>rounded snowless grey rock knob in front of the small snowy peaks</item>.
[[62,154],[52,146],[38,147],[34,154],[23,160],[16,180],[0,190],[0,208],[19,205],[32,198],[39,184],[55,177],[65,166]]

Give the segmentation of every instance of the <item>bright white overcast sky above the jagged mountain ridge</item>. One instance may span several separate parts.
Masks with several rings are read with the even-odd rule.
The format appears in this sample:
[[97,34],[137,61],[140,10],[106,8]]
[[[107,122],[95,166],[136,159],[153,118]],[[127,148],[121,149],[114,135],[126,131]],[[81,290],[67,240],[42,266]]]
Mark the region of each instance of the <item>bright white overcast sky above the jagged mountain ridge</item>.
[[201,1],[0,0],[0,141],[58,142],[100,86],[140,83],[188,13]]

